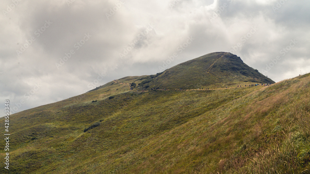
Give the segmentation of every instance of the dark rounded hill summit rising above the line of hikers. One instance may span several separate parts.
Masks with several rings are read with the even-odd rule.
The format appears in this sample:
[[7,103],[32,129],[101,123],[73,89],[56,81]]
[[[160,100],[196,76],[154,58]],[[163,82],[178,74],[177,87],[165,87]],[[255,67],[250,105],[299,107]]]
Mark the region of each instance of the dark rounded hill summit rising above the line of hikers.
[[[120,79],[126,80],[126,78]],[[219,88],[252,83],[275,83],[232,53],[216,52],[136,79],[140,89]]]

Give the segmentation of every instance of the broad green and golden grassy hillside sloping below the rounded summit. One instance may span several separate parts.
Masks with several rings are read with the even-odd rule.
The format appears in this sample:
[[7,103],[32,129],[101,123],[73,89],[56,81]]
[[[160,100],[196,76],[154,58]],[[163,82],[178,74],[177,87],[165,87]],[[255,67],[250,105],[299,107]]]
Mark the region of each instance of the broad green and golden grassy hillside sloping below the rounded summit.
[[[218,57],[212,59],[211,69],[210,62],[201,63],[208,62],[210,55]],[[182,84],[178,80],[183,77],[177,76],[180,69],[191,67],[209,69],[226,84],[266,80],[252,71],[225,71],[220,66],[225,60],[230,62],[225,67],[243,65],[230,53],[211,53],[166,70],[178,77],[175,82],[163,80],[169,79],[166,71],[153,78],[129,76],[13,114],[10,170],[2,167],[0,172],[308,173],[310,74],[269,86],[226,89],[206,79],[216,88],[173,90],[173,85]],[[216,72],[228,75],[219,77]],[[236,79],[229,80],[231,76]],[[152,81],[145,88],[148,84],[141,83],[149,78]],[[151,85],[171,89],[151,90]]]

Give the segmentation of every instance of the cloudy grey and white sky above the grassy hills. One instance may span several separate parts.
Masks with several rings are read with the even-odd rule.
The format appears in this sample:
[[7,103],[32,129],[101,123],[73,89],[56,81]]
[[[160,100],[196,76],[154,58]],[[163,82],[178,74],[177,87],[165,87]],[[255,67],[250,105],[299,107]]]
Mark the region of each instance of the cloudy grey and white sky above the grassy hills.
[[[275,82],[310,72],[308,0],[0,2],[0,113],[230,52]],[[1,117],[1,115],[0,115]]]

